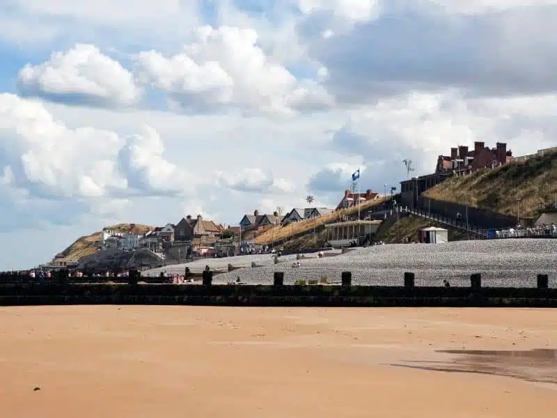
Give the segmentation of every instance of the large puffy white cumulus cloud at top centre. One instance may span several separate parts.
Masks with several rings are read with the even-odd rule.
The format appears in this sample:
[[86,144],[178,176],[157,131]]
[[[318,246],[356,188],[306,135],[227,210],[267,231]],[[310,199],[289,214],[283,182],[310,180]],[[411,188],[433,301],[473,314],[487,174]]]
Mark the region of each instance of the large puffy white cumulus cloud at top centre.
[[142,82],[168,93],[185,109],[241,109],[285,112],[322,109],[332,104],[326,91],[311,81],[299,81],[258,46],[253,29],[202,26],[180,54],[156,51],[136,55]]

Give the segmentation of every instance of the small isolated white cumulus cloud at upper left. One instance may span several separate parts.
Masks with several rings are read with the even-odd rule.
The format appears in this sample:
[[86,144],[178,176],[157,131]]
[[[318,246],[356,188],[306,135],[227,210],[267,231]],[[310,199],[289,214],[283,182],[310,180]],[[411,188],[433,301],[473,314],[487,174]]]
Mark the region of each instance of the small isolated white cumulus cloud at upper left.
[[17,76],[19,93],[70,104],[129,106],[141,90],[131,72],[93,45],[54,52],[39,65],[26,64]]

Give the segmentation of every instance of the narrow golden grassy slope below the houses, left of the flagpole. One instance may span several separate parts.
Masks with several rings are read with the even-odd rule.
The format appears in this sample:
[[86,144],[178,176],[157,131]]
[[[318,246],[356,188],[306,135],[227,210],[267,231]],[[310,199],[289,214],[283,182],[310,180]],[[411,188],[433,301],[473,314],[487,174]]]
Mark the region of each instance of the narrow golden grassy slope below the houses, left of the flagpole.
[[368,208],[371,208],[372,206],[383,203],[383,200],[384,199],[377,199],[374,201],[364,202],[361,203],[359,206],[353,206],[352,208],[336,210],[335,212],[328,213],[327,215],[321,215],[320,217],[316,217],[313,219],[305,219],[304,221],[300,222],[292,222],[292,224],[279,226],[278,228],[274,228],[274,230],[269,229],[269,231],[265,231],[264,233],[258,235],[258,237],[255,238],[254,242],[256,242],[256,244],[270,244],[272,241],[276,242],[288,240],[288,238],[292,235],[303,232],[310,232],[313,231],[313,228],[317,226],[338,222],[340,220],[340,217],[342,216],[356,214],[358,212],[358,208],[360,210],[366,210]]

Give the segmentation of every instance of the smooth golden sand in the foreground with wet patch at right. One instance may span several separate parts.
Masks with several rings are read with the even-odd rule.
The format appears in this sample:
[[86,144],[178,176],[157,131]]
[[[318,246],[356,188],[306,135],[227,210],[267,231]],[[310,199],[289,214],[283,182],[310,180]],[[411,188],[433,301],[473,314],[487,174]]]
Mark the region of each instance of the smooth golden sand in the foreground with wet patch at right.
[[5,418],[557,411],[557,310],[9,307],[0,333]]

